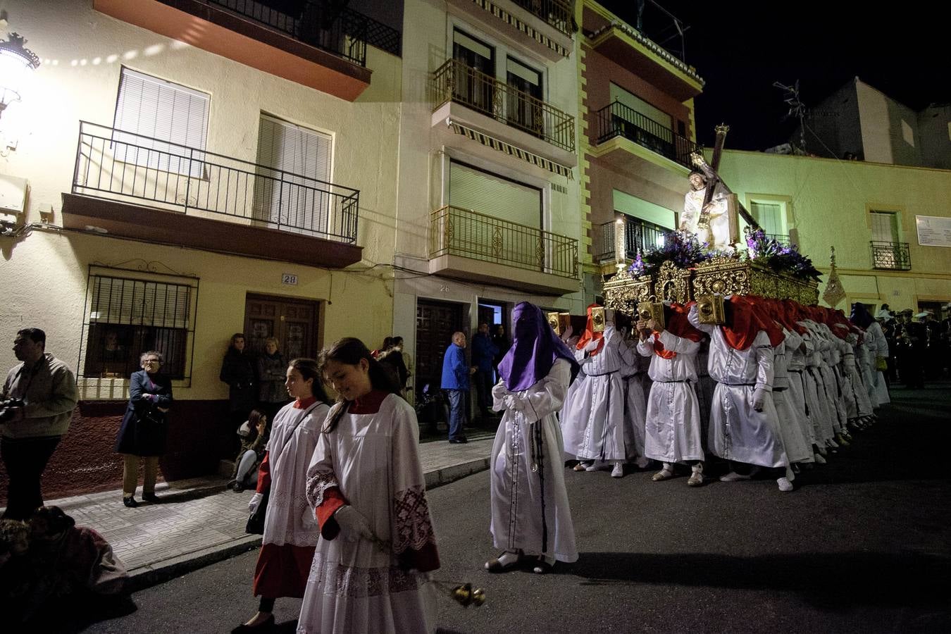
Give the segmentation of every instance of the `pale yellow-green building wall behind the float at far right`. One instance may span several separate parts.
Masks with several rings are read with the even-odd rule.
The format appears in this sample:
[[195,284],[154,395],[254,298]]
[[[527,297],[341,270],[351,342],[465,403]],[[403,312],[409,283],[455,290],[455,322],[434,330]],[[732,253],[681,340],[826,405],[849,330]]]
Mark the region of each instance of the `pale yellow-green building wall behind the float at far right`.
[[[720,174],[747,209],[757,196],[788,201],[786,226],[798,230],[800,251],[824,273],[835,247],[846,301],[902,310],[951,300],[951,247],[920,245],[915,228],[915,216],[951,218],[951,171],[728,150]],[[874,210],[897,212],[910,271],[872,269]]]

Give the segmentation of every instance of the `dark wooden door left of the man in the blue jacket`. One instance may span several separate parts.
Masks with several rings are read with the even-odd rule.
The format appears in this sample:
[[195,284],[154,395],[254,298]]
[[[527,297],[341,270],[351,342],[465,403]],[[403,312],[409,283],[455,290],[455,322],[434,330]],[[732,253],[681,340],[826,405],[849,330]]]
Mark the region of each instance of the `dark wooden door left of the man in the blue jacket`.
[[432,299],[417,300],[416,389],[422,394],[427,384],[438,386],[442,379],[442,355],[453,333],[468,335],[463,325],[463,306]]

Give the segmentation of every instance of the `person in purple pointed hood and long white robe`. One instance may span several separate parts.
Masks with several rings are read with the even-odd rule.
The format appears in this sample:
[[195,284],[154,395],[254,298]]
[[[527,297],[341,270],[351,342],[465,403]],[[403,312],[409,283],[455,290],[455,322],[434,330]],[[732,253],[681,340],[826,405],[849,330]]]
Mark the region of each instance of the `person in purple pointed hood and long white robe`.
[[542,574],[555,561],[578,559],[554,416],[577,365],[537,306],[519,303],[513,321],[512,348],[492,390],[493,409],[503,414],[491,456],[490,530],[502,553],[485,567],[503,572],[528,558]]

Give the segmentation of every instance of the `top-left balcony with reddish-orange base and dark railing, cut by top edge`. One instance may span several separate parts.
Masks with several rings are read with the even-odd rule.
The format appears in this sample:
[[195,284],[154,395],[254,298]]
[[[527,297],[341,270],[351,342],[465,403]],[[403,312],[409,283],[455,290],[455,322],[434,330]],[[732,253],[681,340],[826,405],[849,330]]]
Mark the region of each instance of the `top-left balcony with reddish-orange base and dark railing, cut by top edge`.
[[316,0],[302,2],[301,13],[293,15],[254,0],[93,0],[93,6],[128,24],[347,101],[370,86],[368,36],[394,46],[392,29]]

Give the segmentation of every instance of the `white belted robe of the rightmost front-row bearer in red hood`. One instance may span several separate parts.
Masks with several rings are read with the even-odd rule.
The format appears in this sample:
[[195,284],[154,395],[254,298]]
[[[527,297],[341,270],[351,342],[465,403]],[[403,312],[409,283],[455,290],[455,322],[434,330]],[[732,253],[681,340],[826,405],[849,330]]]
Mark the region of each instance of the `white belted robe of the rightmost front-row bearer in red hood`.
[[[776,408],[768,394],[773,379],[769,336],[760,331],[746,350],[735,350],[720,326],[700,323],[696,305],[688,317],[694,328],[710,337],[708,372],[717,384],[710,406],[709,451],[750,465],[788,467]],[[753,409],[756,388],[767,391],[762,412]]]

